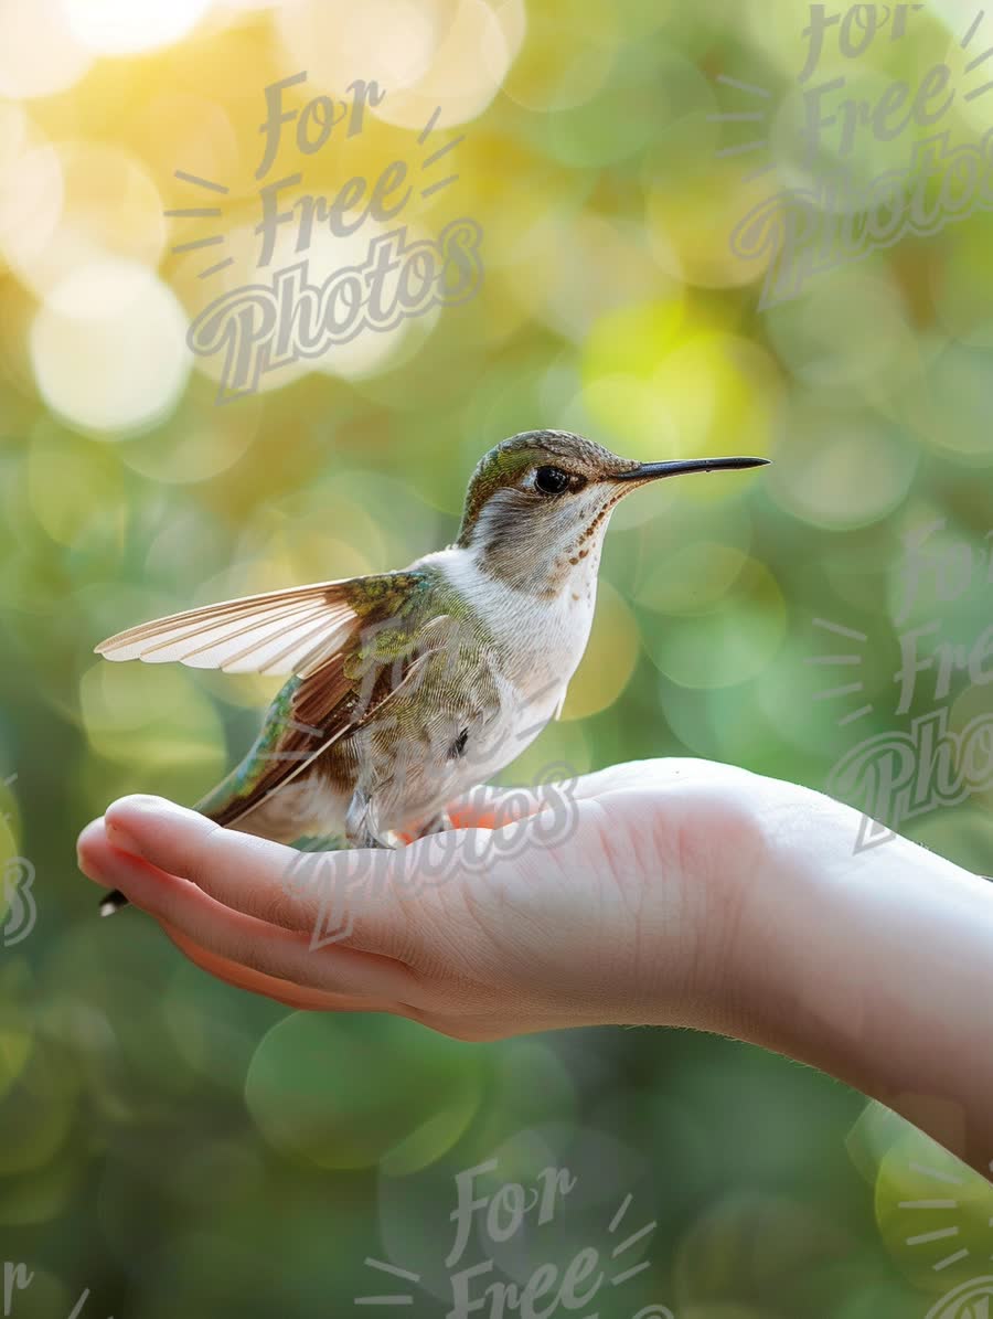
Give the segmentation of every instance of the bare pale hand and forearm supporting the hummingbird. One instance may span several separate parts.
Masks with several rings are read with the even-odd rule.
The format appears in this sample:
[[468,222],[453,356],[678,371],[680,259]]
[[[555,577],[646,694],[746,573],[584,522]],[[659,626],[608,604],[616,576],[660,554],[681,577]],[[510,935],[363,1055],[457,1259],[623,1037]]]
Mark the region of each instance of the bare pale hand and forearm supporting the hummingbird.
[[[902,838],[856,852],[857,811],[729,765],[617,765],[574,795],[551,845],[547,798],[489,789],[451,809],[472,834],[360,853],[351,933],[323,947],[319,893],[287,884],[298,853],[161,798],[115,802],[79,864],[204,971],[287,1006],[390,1012],[469,1041],[716,1031],[847,1082],[989,1175],[986,880]],[[495,826],[488,864],[463,867]],[[355,860],[331,853],[326,873]],[[433,881],[411,888],[421,865]]]

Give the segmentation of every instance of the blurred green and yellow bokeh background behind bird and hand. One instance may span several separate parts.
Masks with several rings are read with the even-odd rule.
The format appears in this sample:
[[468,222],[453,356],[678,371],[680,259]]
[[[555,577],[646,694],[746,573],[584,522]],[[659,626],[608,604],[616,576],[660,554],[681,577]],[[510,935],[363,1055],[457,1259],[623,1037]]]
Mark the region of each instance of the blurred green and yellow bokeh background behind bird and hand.
[[[764,309],[783,233],[752,260],[731,244],[783,189],[815,198],[815,236],[819,207],[857,230],[857,198],[824,181],[906,170],[936,132],[978,153],[993,127],[993,63],[973,65],[993,18],[964,46],[977,11],[963,4],[914,8],[899,40],[895,9],[873,36],[872,7],[856,8],[848,54],[829,26],[800,83],[811,9],[794,0],[0,0],[0,861],[37,876],[37,925],[0,947],[0,1262],[34,1272],[12,1315],[69,1315],[86,1289],[96,1319],[344,1315],[405,1291],[404,1312],[447,1314],[454,1177],[493,1158],[491,1190],[547,1166],[579,1175],[568,1213],[491,1248],[506,1277],[609,1256],[628,1194],[625,1231],[657,1223],[633,1252],[649,1268],[597,1295],[605,1319],[650,1304],[923,1319],[986,1272],[985,1183],[807,1068],[688,1033],[472,1046],[286,1013],[210,980],[140,915],[98,921],[74,861],[78,830],[116,795],[200,797],[278,685],[105,665],[98,641],[440,547],[476,459],[517,430],[774,467],[618,509],[564,719],[506,782],[691,754],[826,787],[868,737],[989,710],[985,675],[961,666],[943,692],[935,667],[919,674],[903,712],[894,682],[911,625],[936,624],[919,648],[934,654],[972,648],[989,620],[985,194],[960,175],[948,223],[857,261],[851,240],[848,260]],[[804,149],[804,88],[844,78],[876,106],[898,80],[913,98],[946,59],[940,123],[888,137],[857,116],[847,153],[840,120]],[[393,160],[415,173],[464,135],[423,165],[425,181],[458,179],[415,189],[400,223],[434,239],[473,219],[484,280],[462,306],[218,406],[219,359],[185,334],[265,277],[264,88],[301,70],[297,111],[319,94],[340,104],[355,79],[386,95],[320,152],[289,125],[270,178],[301,171],[302,193],[330,197]],[[191,206],[223,214],[164,216]],[[313,269],[355,261],[375,232],[324,237]],[[173,251],[211,233],[226,245]],[[907,615],[903,541],[934,522]],[[973,785],[902,830],[986,873],[989,805]],[[24,933],[18,892],[8,935]],[[901,1210],[934,1194],[914,1163],[961,1179],[951,1245],[907,1244],[949,1221]],[[952,1250],[967,1253],[942,1264]]]

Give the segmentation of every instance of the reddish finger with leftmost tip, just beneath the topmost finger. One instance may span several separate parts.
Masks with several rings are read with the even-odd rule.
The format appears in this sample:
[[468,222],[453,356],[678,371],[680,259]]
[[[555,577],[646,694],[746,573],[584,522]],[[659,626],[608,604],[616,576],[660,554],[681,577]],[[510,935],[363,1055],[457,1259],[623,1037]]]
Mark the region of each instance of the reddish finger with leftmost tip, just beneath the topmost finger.
[[195,884],[113,847],[105,832],[102,839],[87,830],[79,860],[86,874],[121,889],[136,906],[227,962],[297,985],[371,998],[404,1001],[414,988],[400,963],[340,944],[311,951],[307,935],[224,906]]

